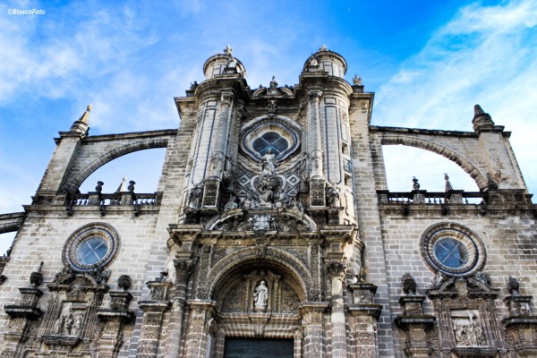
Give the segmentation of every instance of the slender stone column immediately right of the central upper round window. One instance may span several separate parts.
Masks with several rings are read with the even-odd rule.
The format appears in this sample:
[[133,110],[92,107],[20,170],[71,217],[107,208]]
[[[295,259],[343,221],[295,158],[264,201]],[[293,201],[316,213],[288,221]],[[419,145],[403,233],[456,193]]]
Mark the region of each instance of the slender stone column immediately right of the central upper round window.
[[308,132],[310,147],[310,200],[312,207],[325,207],[325,178],[323,175],[322,145],[320,141],[320,90],[308,91]]

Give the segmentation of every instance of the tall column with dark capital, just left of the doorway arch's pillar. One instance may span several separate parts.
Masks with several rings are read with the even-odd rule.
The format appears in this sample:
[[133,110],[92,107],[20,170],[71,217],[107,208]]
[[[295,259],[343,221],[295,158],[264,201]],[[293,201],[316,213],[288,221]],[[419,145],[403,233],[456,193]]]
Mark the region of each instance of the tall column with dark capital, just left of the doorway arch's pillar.
[[179,252],[174,260],[175,266],[175,295],[172,312],[168,324],[168,339],[166,342],[166,357],[179,357],[181,332],[183,331],[184,303],[186,289],[196,261],[191,259],[192,252]]

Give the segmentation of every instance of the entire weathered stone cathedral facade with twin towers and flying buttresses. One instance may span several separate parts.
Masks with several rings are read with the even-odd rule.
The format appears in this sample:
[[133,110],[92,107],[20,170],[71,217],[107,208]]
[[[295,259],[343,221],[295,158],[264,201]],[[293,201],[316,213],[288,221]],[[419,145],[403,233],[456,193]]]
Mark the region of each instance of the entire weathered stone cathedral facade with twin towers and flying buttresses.
[[[473,132],[371,125],[324,46],[294,87],[251,89],[230,47],[203,72],[178,129],[93,136],[88,107],[0,216],[0,357],[537,357],[536,207],[481,107]],[[395,144],[480,191],[389,192]],[[78,190],[152,148],[157,192]]]

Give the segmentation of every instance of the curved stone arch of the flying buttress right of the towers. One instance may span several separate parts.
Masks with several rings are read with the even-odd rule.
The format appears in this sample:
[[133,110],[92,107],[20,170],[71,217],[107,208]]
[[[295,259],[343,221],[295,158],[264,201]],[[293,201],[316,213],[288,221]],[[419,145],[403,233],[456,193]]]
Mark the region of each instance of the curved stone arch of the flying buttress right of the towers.
[[414,147],[419,149],[425,149],[430,152],[439,154],[456,165],[460,166],[468,175],[470,175],[481,191],[487,189],[487,179],[480,170],[474,166],[468,159],[464,158],[460,154],[456,153],[453,149],[449,149],[441,144],[433,141],[427,141],[421,138],[413,136],[403,136],[396,134],[383,135],[380,141],[383,145],[396,145],[401,144],[408,147]]

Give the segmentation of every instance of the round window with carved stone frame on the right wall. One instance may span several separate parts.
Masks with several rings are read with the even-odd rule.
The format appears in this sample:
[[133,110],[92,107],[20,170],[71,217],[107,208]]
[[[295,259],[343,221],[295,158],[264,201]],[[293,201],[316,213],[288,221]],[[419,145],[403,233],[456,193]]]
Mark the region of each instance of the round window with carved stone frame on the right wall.
[[422,234],[422,257],[435,271],[451,277],[466,277],[485,263],[484,246],[465,226],[440,223]]

